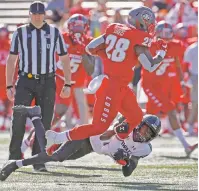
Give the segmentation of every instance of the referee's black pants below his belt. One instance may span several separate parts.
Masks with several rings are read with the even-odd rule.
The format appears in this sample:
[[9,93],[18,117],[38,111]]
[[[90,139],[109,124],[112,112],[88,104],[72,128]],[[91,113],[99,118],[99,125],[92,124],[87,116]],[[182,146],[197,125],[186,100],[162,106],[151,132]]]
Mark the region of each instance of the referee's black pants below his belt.
[[[29,79],[25,76],[19,76],[16,84],[16,94],[14,105],[30,106],[35,98],[36,105],[41,107],[42,123],[45,130],[49,130],[54,111],[56,93],[55,77],[40,79]],[[21,159],[21,143],[25,133],[26,116],[17,112],[13,113],[12,136],[9,147],[9,160]],[[35,136],[32,148],[32,155],[40,153],[39,143]]]

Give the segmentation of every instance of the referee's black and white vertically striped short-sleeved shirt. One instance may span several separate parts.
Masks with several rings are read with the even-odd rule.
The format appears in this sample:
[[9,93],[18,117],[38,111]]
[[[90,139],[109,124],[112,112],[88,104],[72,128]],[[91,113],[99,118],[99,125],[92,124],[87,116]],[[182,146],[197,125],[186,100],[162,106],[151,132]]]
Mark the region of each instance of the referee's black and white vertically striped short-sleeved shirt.
[[56,53],[67,54],[59,30],[45,23],[37,29],[27,24],[13,34],[10,54],[19,55],[19,70],[31,74],[48,74],[56,71]]

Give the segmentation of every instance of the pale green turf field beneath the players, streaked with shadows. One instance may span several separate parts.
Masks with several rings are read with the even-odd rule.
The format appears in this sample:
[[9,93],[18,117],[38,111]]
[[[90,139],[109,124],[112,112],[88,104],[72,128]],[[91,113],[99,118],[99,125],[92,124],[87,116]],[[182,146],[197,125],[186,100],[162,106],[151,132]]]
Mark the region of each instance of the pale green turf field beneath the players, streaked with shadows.
[[[8,156],[8,135],[0,135],[0,165]],[[188,138],[196,142],[197,138]],[[197,150],[187,159],[176,138],[158,138],[153,154],[140,161],[134,173],[125,178],[120,166],[106,156],[89,154],[76,161],[48,163],[49,173],[33,173],[21,168],[5,182],[0,191],[125,191],[125,190],[198,190]],[[30,151],[26,153],[30,156]]]

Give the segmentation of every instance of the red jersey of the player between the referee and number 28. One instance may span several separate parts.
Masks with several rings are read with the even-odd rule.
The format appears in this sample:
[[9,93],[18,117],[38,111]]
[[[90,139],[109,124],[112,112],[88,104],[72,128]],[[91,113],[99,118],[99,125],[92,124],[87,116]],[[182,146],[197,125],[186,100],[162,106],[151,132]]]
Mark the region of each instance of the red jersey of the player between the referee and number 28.
[[[82,87],[84,86],[87,76],[82,65],[82,47],[79,44],[74,43],[68,33],[64,33],[63,38],[71,61],[71,80],[76,82],[73,87]],[[91,40],[92,37],[85,36],[84,44],[87,45]]]

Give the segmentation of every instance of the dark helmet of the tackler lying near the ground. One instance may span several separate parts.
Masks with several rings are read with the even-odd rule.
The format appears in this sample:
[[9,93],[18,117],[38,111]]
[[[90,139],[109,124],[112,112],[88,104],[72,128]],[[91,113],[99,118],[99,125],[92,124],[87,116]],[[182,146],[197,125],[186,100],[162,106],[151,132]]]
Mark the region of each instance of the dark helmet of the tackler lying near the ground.
[[153,140],[161,129],[161,121],[155,115],[145,115],[142,122],[133,130],[135,142],[149,142]]

